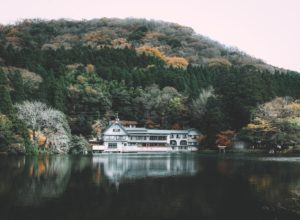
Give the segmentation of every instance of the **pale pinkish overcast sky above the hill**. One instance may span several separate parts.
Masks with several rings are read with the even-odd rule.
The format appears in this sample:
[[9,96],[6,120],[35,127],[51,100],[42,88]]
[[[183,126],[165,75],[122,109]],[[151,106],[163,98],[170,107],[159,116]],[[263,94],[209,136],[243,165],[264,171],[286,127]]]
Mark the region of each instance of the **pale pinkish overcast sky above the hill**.
[[300,71],[300,0],[0,0],[0,23],[24,18],[147,18]]

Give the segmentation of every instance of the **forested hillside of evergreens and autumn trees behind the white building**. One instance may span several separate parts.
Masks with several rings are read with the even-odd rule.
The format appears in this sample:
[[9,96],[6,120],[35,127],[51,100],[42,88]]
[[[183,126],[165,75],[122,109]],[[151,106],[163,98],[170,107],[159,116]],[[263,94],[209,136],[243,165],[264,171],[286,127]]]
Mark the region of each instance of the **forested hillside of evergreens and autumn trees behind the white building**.
[[[30,103],[42,103],[41,112],[47,109],[62,122],[69,139],[61,144],[85,143],[83,137],[99,134],[118,113],[147,127],[197,128],[205,137],[202,145],[214,146],[218,133],[239,132],[253,120],[259,105],[300,98],[299,73],[190,28],[147,20],[0,26],[0,67],[0,151],[34,151],[30,139],[37,132],[48,132],[43,134],[50,139],[48,119],[36,129],[22,120]],[[59,145],[54,139],[51,144]]]

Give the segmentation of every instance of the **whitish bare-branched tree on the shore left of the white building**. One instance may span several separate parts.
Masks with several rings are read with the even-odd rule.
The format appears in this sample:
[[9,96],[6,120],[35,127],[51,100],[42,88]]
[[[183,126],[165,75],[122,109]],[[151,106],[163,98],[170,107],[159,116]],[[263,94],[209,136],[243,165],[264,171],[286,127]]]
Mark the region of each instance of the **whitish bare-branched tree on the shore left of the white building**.
[[46,144],[58,152],[67,152],[70,142],[70,127],[65,115],[41,102],[25,101],[16,104],[18,117],[33,132],[33,143],[38,146],[40,135]]

